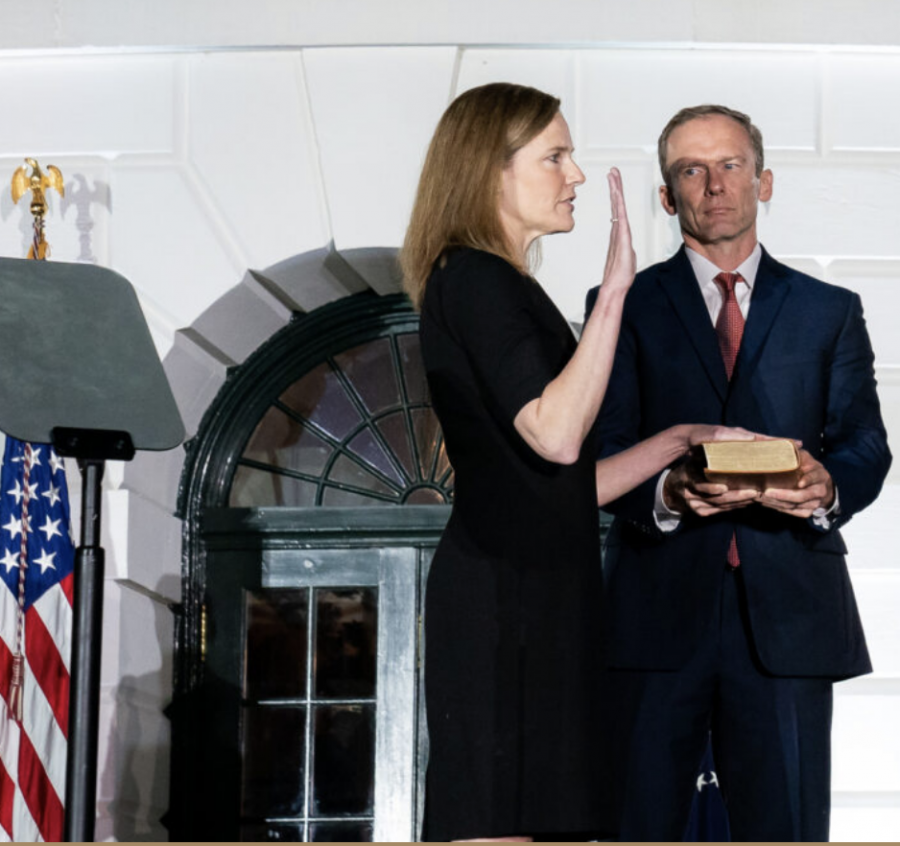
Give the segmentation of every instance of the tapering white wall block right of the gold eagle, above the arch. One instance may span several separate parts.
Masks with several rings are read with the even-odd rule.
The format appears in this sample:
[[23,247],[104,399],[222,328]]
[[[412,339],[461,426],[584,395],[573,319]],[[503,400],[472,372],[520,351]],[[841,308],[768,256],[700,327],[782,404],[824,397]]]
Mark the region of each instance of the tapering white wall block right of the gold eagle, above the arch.
[[300,54],[207,54],[186,65],[186,158],[241,269],[326,244]]

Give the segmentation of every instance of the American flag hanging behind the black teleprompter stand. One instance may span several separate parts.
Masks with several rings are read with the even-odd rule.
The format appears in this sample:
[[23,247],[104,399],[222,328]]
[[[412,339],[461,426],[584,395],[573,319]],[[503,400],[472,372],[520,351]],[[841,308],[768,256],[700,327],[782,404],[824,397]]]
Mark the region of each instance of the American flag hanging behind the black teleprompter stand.
[[75,563],[70,525],[62,459],[49,444],[7,436],[0,469],[4,840],[63,837]]

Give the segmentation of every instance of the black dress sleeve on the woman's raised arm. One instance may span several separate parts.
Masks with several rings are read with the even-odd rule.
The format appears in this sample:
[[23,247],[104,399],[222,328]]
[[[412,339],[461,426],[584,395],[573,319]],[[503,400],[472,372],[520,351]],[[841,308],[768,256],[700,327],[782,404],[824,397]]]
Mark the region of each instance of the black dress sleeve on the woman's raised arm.
[[[447,329],[510,423],[560,369],[535,312],[536,286],[499,256],[474,250],[440,273]],[[547,305],[553,307],[549,300]]]

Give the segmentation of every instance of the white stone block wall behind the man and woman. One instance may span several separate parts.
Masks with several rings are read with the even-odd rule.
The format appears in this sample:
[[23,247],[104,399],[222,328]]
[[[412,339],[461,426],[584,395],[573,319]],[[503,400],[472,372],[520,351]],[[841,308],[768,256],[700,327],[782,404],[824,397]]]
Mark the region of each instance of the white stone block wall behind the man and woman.
[[[720,14],[709,4],[693,5]],[[679,4],[654,8],[665,15],[674,14],[674,6]],[[680,4],[680,13],[689,6]],[[282,12],[287,15],[284,7]],[[615,26],[626,24],[605,14],[612,15],[611,31],[622,32]],[[153,31],[166,31],[154,20]],[[893,25],[893,18],[885,20]],[[283,23],[294,31],[290,15]],[[788,23],[795,24],[793,18]],[[608,167],[617,164],[624,174],[640,264],[664,258],[677,245],[678,232],[656,198],[657,134],[683,105],[724,101],[748,110],[767,141],[775,195],[761,219],[764,243],[793,266],[863,297],[885,417],[898,449],[900,118],[894,104],[900,52],[660,47],[652,42],[662,36],[656,28],[651,35],[650,24],[645,40],[635,35],[632,44],[608,49],[560,46],[554,24],[547,29],[548,49],[466,48],[477,41],[470,38],[402,48],[3,54],[0,188],[26,154],[62,168],[70,201],[62,206],[52,200],[54,257],[93,256],[132,280],[158,348],[168,355],[193,434],[225,367],[243,360],[285,320],[283,309],[248,286],[246,271],[319,250],[332,239],[346,250],[398,246],[425,146],[453,91],[505,79],[561,96],[588,182],[579,192],[575,232],[545,242],[539,277],[574,320],[582,317],[584,292],[602,273]],[[199,24],[190,18],[187,25]],[[586,23],[584,31],[595,25]],[[627,25],[640,29],[639,22]],[[256,26],[262,25],[248,24],[247,43]],[[448,38],[456,26],[447,29]],[[722,27],[719,32],[726,31]],[[495,40],[520,40],[524,31],[512,21],[508,35]],[[577,18],[569,31],[570,40],[580,40]],[[689,37],[671,31],[674,40]],[[715,41],[714,31],[704,30],[702,38]],[[529,32],[532,44],[544,43],[540,29]],[[309,43],[316,41],[310,37]],[[893,43],[900,44],[900,37]],[[3,190],[0,252],[20,256],[27,210],[24,203],[14,208]],[[74,202],[79,192],[82,218]],[[232,299],[223,299],[226,294]],[[218,310],[212,309],[217,302]],[[220,320],[229,308],[230,336]],[[195,334],[176,335],[191,325]],[[169,598],[178,594],[180,538],[177,521],[167,515],[181,460],[180,452],[139,456],[106,517],[113,523],[111,577]],[[122,484],[121,473],[110,475],[113,487]],[[898,520],[900,468],[879,502],[846,530],[876,674],[838,687],[836,838],[893,839],[900,830],[900,747],[894,740],[900,561],[892,532]],[[165,795],[167,741],[155,724],[144,726],[148,698],[164,704],[170,690],[171,640],[159,624],[168,612],[127,585],[115,589],[108,605],[104,713],[115,716],[105,723],[101,799],[121,800],[118,805],[140,821],[119,831],[162,837],[153,815]],[[120,613],[126,607],[129,612]],[[147,639],[155,644],[150,652],[138,648]],[[137,704],[127,692],[135,679]],[[143,733],[157,738],[157,757],[131,767],[127,749],[142,742]],[[150,774],[152,790],[142,781]],[[132,785],[127,796],[115,795],[120,775]],[[106,820],[104,831],[115,834],[114,822]]]

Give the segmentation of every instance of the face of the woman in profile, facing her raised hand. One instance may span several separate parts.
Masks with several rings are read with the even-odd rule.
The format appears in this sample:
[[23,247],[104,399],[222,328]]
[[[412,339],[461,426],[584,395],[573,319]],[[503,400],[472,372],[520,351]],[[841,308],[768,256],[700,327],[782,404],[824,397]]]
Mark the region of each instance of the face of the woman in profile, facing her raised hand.
[[535,238],[569,232],[575,225],[575,186],[584,182],[584,174],[572,149],[569,126],[557,113],[503,171],[500,220],[523,255]]

